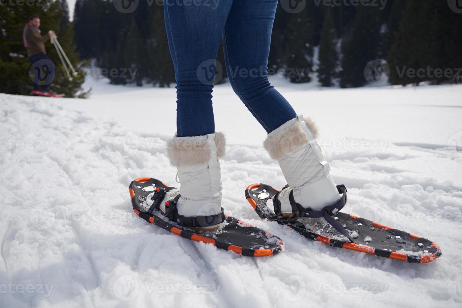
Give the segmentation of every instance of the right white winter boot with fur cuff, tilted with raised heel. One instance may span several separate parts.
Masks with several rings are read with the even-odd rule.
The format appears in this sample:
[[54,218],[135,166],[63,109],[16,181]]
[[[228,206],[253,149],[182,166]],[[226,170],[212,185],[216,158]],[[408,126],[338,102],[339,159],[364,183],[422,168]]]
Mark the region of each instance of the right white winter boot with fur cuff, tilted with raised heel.
[[[301,214],[305,209],[320,211],[340,200],[340,188],[335,186],[330,177],[329,164],[324,160],[316,137],[315,124],[308,118],[304,119],[303,115],[298,115],[269,133],[264,142],[269,155],[279,162],[289,185],[274,200],[275,207],[279,207],[283,216],[304,217],[300,215],[300,210]],[[329,212],[332,210],[335,212],[334,208],[329,209]]]

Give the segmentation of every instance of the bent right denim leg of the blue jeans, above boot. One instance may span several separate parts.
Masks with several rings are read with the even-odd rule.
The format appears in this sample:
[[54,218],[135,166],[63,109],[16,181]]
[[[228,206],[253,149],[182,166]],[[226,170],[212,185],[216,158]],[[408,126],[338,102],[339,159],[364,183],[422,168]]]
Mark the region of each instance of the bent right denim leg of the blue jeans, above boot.
[[223,35],[231,86],[268,133],[296,116],[267,76],[277,4],[278,0],[234,0]]

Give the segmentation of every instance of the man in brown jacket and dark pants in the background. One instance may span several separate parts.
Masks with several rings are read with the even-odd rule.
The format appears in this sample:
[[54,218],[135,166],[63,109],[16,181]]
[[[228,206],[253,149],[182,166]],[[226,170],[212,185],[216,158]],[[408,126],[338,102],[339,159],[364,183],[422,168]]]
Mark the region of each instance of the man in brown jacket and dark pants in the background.
[[[48,35],[42,36],[40,31],[40,17],[33,15],[23,31],[24,47],[27,49],[32,69],[34,72],[34,89],[32,95],[35,96],[55,96],[49,90],[56,68],[45,50],[45,42],[55,37],[55,32],[49,31]],[[46,72],[43,72],[45,68]]]

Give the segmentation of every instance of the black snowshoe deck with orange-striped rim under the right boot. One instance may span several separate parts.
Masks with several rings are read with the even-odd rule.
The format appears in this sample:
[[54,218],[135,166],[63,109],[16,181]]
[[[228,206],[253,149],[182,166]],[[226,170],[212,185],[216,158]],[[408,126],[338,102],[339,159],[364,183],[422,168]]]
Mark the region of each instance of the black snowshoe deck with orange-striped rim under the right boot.
[[266,184],[252,184],[245,190],[245,197],[261,219],[277,221],[310,240],[410,263],[432,262],[441,255],[439,247],[425,238],[340,211],[333,217],[345,227],[354,243],[332,228],[324,218],[277,218],[267,206],[269,200],[272,207],[272,199],[277,192]]

